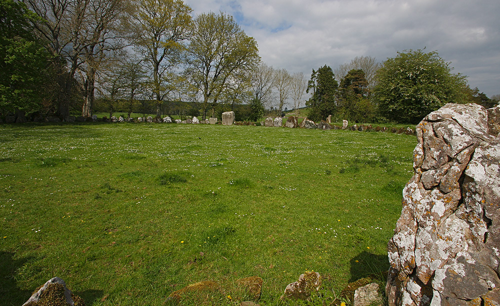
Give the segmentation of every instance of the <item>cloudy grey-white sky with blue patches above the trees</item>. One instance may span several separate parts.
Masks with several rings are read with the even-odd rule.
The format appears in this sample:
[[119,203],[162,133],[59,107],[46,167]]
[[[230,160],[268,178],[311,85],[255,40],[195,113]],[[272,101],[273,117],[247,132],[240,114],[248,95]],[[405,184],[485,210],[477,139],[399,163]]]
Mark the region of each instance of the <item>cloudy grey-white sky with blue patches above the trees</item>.
[[355,56],[437,50],[488,96],[500,93],[499,0],[184,0],[193,14],[230,13],[262,60],[303,72]]

